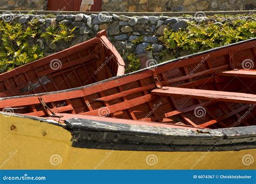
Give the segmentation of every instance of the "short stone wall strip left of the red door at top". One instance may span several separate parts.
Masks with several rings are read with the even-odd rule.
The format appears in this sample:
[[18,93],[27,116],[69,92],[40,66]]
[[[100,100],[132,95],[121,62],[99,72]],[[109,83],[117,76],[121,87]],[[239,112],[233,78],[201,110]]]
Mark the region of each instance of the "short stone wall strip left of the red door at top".
[[1,0],[0,10],[46,10],[48,0]]

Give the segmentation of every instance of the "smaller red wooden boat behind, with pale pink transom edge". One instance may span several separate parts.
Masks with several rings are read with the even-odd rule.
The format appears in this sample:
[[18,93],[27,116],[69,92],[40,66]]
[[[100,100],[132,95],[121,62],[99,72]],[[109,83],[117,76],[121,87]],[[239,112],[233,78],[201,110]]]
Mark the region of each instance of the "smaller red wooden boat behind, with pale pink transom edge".
[[0,97],[85,86],[123,75],[124,67],[103,30],[82,44],[0,74]]

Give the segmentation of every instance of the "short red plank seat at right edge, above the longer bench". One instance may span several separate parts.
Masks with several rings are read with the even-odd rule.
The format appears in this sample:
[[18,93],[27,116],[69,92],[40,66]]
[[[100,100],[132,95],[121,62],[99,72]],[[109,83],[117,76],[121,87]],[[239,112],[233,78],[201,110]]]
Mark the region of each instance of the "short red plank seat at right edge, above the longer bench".
[[239,69],[239,70],[230,70],[221,73],[217,73],[220,76],[232,76],[232,77],[248,77],[248,78],[256,78],[256,70],[255,69]]

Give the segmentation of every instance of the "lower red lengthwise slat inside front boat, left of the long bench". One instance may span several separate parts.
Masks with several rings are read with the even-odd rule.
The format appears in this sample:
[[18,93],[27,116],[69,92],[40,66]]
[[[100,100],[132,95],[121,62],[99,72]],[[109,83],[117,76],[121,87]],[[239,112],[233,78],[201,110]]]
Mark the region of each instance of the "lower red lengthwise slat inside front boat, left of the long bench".
[[[146,102],[150,102],[152,100],[153,100],[152,95],[148,94],[148,95],[141,96],[141,97],[138,97],[138,98],[133,98],[132,100],[128,100],[128,101],[125,101],[125,102],[110,105],[107,108],[109,109],[109,112],[111,114],[113,112],[122,111],[122,110],[125,110],[125,109],[128,109],[128,108],[136,107],[137,105],[140,105],[140,104],[143,104],[143,103],[146,103]],[[99,109],[92,110],[92,111],[89,111],[89,112],[84,112],[84,113],[82,113],[82,115],[84,114],[84,115],[97,116],[97,115],[99,115],[98,110]]]

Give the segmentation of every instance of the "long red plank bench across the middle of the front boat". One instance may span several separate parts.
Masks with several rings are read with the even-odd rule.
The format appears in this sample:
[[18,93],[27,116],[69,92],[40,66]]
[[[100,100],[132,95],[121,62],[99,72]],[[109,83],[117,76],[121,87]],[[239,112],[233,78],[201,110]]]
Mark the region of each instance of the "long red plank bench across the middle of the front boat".
[[233,93],[226,91],[214,91],[214,90],[202,90],[202,89],[186,89],[186,88],[175,88],[165,87],[164,89],[154,89],[151,91],[152,95],[161,96],[182,96],[191,97],[204,100],[214,100],[221,102],[232,102],[232,103],[256,103],[256,95],[245,94],[245,93]]

